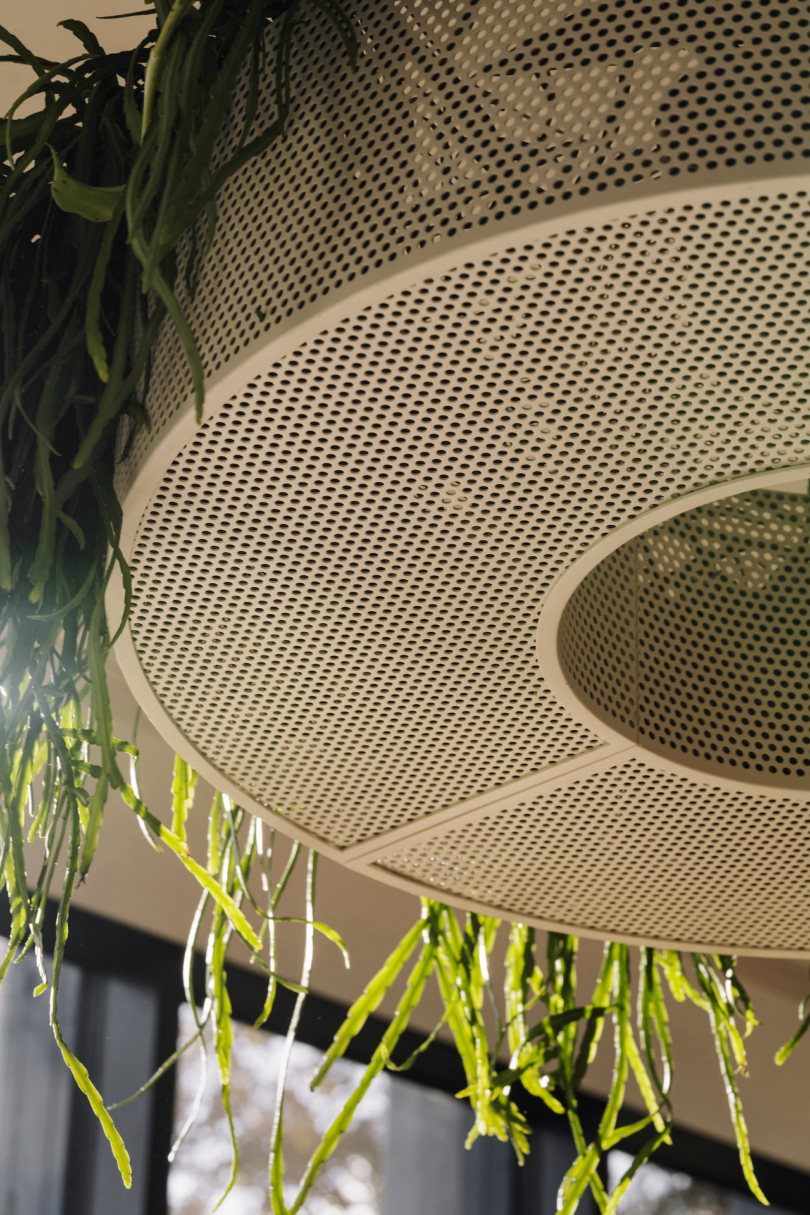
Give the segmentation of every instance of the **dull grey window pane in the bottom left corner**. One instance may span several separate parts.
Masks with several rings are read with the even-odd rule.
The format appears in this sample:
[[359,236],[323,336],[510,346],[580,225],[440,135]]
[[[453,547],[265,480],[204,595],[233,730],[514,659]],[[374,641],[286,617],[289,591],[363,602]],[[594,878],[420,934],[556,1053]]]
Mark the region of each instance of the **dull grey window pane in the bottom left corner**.
[[[7,940],[0,937],[0,957]],[[52,959],[45,966],[51,973]],[[0,1213],[147,1215],[152,1094],[114,1113],[132,1163],[125,1189],[109,1145],[64,1066],[50,1025],[50,993],[33,954],[0,988]],[[104,1101],[135,1092],[154,1069],[158,994],[117,976],[62,966],[60,1024]]]

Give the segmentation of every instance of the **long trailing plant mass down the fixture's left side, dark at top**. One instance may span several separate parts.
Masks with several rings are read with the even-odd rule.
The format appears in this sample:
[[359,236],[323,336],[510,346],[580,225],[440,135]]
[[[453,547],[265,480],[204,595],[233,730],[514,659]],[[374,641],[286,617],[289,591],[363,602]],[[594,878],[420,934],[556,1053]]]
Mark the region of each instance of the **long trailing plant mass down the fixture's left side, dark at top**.
[[[12,911],[0,978],[13,960],[36,951],[56,1040],[128,1185],[124,1145],[58,1021],[70,902],[92,865],[111,790],[199,882],[200,917],[208,905],[214,909],[210,1015],[226,1100],[223,960],[233,932],[260,959],[262,938],[271,942],[264,962],[268,1004],[276,981],[272,912],[265,909],[254,928],[242,906],[247,899],[259,914],[248,880],[257,855],[267,863],[260,824],[245,825],[243,812],[219,798],[208,865],[194,860],[186,842],[192,778],[185,764],[177,763],[168,827],[137,793],[137,752],[114,733],[106,665],[125,621],[107,618],[104,592],[117,563],[129,608],[114,492],[117,433],[123,416],[136,426],[147,422],[142,402],[164,323],[183,341],[202,409],[202,363],[174,292],[177,249],[187,242],[183,289],[191,292],[198,259],[214,238],[219,190],[285,130],[299,23],[329,22],[350,57],[357,47],[333,0],[308,5],[306,13],[298,0],[157,0],[153,15],[138,45],[117,55],[107,55],[83,22],[64,22],[77,38],[77,55],[64,63],[38,57],[0,27],[4,62],[32,69],[0,141],[0,870]],[[274,22],[281,32],[268,61],[266,35]],[[242,135],[210,171],[245,63]],[[274,77],[277,111],[259,124],[266,73]],[[17,117],[32,104],[33,113]],[[128,756],[132,775],[125,776]],[[40,858],[43,844],[44,861],[32,869],[27,857]],[[47,976],[41,923],[55,877],[61,900]]]

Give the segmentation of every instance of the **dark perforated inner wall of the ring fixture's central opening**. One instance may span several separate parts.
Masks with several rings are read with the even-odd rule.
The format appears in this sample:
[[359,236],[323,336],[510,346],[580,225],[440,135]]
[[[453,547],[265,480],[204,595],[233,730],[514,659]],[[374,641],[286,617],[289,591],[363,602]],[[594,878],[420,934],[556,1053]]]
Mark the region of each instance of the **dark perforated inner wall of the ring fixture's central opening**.
[[577,697],[687,768],[810,789],[808,481],[696,507],[614,549],[560,618]]

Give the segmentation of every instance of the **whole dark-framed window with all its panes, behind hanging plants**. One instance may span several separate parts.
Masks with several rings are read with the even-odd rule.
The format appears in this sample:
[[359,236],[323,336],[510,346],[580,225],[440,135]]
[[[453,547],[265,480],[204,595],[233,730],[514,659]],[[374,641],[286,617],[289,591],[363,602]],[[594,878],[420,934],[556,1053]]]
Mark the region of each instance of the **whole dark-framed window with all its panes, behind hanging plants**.
[[[52,948],[55,908],[44,925]],[[0,933],[9,931],[0,906]],[[0,940],[0,950],[5,942]],[[189,1008],[180,985],[182,949],[146,933],[74,909],[61,987],[66,1038],[90,1068],[104,1100],[121,1100],[140,1087],[189,1033]],[[264,981],[232,967],[231,995],[237,1025],[234,1111],[239,1119],[239,1188],[223,1215],[264,1215],[267,1149],[281,1038],[294,996],[279,991],[272,1033],[253,1029],[264,1000]],[[32,1000],[38,983],[32,957],[11,967],[0,990],[0,1215],[205,1215],[225,1188],[231,1147],[216,1098],[211,1066],[200,1121],[166,1164],[172,1134],[194,1098],[199,1062],[183,1056],[145,1098],[119,1109],[117,1123],[132,1157],[134,1185],[126,1192],[107,1142],[62,1063],[49,1025],[47,996]],[[312,1097],[308,1078],[342,1019],[344,1010],[312,995],[305,1004],[300,1041],[289,1078],[285,1158],[300,1175],[323,1126],[370,1057],[381,1023],[369,1019],[332,1078]],[[418,1035],[403,1042],[407,1053]],[[306,1215],[553,1215],[559,1183],[571,1163],[568,1131],[560,1119],[527,1106],[533,1121],[532,1154],[519,1169],[508,1145],[464,1140],[469,1108],[452,1094],[463,1086],[452,1047],[434,1042],[410,1072],[381,1075],[353,1128],[322,1175]],[[243,1100],[249,1096],[250,1100]],[[584,1121],[595,1126],[602,1106],[582,1098]],[[623,1176],[627,1153],[613,1151],[604,1177]],[[678,1130],[659,1164],[647,1165],[625,1196],[622,1215],[754,1215],[746,1197],[733,1147]],[[806,1174],[758,1159],[771,1215],[810,1215]],[[590,1199],[580,1215],[596,1215]]]

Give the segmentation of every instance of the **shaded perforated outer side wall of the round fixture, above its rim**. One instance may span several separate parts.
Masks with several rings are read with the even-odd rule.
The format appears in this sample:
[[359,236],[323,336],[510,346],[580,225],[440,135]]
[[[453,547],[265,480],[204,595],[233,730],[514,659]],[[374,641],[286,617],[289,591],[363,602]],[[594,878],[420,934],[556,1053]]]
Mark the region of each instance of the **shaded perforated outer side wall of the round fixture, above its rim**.
[[[185,301],[208,375],[305,310],[465,233],[644,183],[783,174],[810,156],[806,0],[359,0],[356,15],[357,73],[310,15],[290,137],[222,192],[214,250]],[[220,156],[240,132],[244,94]],[[273,104],[270,74],[260,122]],[[188,394],[166,330],[152,429],[120,469],[121,498]]]

